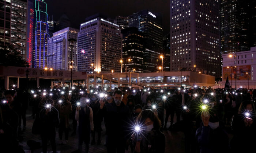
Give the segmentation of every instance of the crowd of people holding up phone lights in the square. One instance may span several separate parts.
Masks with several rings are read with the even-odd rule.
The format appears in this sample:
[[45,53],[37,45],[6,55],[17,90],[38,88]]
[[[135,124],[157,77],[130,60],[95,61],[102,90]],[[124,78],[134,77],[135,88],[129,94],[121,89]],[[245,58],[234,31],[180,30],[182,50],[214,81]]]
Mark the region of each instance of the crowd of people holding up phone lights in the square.
[[[251,152],[256,144],[256,90],[252,89],[205,90],[195,86],[107,91],[63,87],[5,90],[0,96],[3,153],[24,152],[19,141],[26,130],[28,106],[34,118],[31,132],[41,136],[43,153],[49,141],[56,153],[56,130],[59,144],[65,145],[70,135],[78,135],[74,152],[82,152],[84,146],[88,153],[91,145],[102,144],[102,125],[106,127],[108,153],[164,153],[166,145],[172,143],[166,142],[166,130],[184,132],[186,153]],[[27,144],[32,150],[37,145]]]

